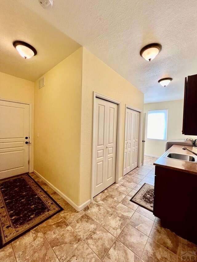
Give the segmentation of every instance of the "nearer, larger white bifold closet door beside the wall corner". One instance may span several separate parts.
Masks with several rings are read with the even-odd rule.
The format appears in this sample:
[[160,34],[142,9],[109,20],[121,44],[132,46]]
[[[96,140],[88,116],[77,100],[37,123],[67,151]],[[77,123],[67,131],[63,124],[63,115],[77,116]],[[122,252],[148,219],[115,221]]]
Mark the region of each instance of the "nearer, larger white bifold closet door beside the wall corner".
[[118,105],[96,98],[93,196],[115,182]]

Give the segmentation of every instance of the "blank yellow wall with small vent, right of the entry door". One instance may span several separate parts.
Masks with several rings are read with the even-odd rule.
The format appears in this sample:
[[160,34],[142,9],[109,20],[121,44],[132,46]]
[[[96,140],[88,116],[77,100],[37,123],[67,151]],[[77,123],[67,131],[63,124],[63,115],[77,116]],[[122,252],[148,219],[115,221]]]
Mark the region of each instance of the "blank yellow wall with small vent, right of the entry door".
[[79,203],[82,48],[34,83],[34,170]]

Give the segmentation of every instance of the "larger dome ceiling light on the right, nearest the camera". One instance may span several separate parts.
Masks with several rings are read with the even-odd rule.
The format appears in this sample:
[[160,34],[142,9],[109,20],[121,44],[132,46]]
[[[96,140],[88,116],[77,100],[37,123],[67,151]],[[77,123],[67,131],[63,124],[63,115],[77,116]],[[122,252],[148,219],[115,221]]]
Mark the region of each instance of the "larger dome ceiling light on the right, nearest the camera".
[[147,61],[152,61],[161,51],[162,46],[160,44],[149,44],[144,46],[140,51],[140,56]]

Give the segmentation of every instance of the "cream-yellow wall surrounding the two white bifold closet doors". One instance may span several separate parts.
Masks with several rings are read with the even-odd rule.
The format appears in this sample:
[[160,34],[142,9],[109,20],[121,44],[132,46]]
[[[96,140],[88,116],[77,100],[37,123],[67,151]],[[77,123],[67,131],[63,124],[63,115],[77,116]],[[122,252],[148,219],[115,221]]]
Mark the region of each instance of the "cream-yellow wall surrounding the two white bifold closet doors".
[[121,102],[119,177],[123,176],[125,105],[143,110],[144,94],[83,47],[80,205],[90,199],[93,91]]

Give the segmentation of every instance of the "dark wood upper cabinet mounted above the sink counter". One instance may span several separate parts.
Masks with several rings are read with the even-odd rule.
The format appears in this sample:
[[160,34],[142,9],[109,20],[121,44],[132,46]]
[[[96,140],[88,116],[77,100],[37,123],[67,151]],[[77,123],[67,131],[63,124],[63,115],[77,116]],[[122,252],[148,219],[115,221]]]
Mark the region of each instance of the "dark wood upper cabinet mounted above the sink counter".
[[184,135],[197,135],[197,75],[185,78],[183,130]]

